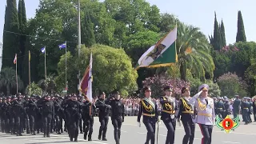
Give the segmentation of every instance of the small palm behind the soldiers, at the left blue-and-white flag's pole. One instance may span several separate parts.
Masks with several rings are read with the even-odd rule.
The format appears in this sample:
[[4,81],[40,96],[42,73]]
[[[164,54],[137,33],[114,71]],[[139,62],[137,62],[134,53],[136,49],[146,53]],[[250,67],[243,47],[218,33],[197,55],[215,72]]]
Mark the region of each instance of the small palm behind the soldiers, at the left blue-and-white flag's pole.
[[[53,94],[56,90],[56,84],[54,82],[55,75],[49,74],[46,79],[41,79],[38,82],[38,86],[42,88],[42,90],[47,90],[49,94]],[[46,91],[44,91],[46,93]]]

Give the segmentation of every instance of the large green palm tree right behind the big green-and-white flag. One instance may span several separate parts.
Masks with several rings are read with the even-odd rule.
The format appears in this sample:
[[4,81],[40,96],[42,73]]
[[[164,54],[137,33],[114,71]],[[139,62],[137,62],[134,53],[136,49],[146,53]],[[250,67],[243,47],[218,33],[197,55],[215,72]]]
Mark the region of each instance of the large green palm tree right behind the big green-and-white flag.
[[177,53],[182,80],[186,81],[186,70],[191,70],[202,81],[206,72],[213,78],[214,61],[210,55],[210,45],[197,27],[179,22]]

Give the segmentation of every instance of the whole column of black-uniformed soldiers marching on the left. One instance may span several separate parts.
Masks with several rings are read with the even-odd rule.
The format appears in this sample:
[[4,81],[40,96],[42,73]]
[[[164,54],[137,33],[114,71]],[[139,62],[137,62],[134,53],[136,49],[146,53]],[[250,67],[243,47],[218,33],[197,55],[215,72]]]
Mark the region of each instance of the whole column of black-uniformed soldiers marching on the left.
[[71,142],[78,142],[80,130],[85,140],[88,138],[88,141],[92,141],[96,110],[101,123],[98,139],[107,141],[106,130],[111,115],[114,139],[119,144],[125,110],[118,91],[109,98],[106,98],[106,94],[102,92],[96,102],[90,102],[76,94],[65,98],[59,95],[23,97],[22,94],[0,97],[0,130],[2,133],[17,136],[22,136],[25,130],[26,134],[32,135],[42,132],[44,138],[50,138],[50,133],[54,131],[57,134],[66,131]]

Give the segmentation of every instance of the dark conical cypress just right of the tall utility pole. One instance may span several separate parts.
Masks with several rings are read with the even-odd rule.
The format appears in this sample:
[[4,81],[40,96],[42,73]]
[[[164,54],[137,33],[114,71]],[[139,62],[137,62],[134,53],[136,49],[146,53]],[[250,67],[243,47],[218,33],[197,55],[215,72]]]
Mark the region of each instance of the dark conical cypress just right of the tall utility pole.
[[90,20],[90,14],[86,10],[85,21],[82,26],[82,43],[86,46],[92,46],[96,43],[95,34],[94,34],[94,23]]

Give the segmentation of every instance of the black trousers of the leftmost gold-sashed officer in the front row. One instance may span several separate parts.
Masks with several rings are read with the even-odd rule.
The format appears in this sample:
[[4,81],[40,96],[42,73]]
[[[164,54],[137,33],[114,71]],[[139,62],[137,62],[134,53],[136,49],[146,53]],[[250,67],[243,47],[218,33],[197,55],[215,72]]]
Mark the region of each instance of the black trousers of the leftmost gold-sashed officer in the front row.
[[[143,119],[144,120],[144,119]],[[154,144],[155,139],[155,121],[143,121],[146,126],[147,134],[146,134],[146,142],[145,144]]]

